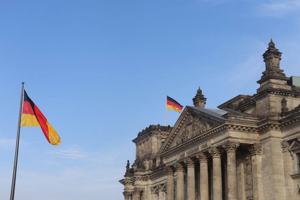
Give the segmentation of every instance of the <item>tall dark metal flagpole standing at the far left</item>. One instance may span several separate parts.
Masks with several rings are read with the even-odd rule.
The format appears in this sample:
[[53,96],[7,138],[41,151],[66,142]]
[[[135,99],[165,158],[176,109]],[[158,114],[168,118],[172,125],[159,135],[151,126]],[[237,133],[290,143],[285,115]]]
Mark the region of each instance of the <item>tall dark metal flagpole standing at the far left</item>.
[[18,133],[17,133],[17,142],[16,142],[16,154],[15,154],[15,163],[13,165],[13,181],[12,181],[12,184],[11,184],[10,200],[13,200],[13,197],[15,195],[15,185],[16,185],[17,162],[18,162],[20,127],[21,127],[21,114],[22,114],[21,112],[22,112],[23,91],[24,91],[24,82],[22,82],[22,92],[21,92],[20,112],[19,112],[19,123],[18,123]]

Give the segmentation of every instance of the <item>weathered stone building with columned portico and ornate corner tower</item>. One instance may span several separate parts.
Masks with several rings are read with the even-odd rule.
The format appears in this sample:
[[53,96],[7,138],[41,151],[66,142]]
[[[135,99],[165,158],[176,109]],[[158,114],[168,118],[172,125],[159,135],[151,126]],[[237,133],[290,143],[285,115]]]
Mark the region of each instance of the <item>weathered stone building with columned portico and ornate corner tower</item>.
[[256,94],[210,109],[199,88],[174,127],[140,132],[125,200],[300,200],[300,77],[280,56],[271,40]]

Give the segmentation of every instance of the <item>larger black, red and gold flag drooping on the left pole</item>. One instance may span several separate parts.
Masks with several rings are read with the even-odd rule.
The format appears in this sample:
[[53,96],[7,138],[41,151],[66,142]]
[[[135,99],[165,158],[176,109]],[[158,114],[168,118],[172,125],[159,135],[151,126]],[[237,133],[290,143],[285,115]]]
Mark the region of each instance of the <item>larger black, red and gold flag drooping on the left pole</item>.
[[22,127],[41,126],[41,129],[50,144],[57,146],[61,143],[58,133],[49,124],[48,120],[45,118],[43,113],[38,109],[35,103],[33,103],[33,101],[28,97],[25,90],[24,90],[21,126]]

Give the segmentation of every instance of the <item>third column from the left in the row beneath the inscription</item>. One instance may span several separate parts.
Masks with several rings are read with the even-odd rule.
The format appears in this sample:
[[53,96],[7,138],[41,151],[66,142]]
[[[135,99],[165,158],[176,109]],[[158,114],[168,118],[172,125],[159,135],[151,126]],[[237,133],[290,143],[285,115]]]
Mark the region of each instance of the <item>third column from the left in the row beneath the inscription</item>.
[[187,166],[187,200],[195,200],[195,160],[186,158],[184,163]]

